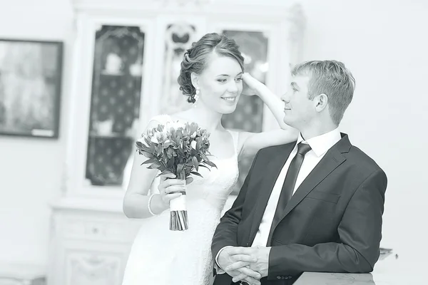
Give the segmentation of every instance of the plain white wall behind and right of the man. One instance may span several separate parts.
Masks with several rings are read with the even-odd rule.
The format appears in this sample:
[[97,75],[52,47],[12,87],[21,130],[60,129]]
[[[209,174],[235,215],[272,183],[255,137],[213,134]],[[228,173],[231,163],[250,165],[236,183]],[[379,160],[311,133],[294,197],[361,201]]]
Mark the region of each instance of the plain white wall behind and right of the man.
[[[356,79],[342,131],[384,169],[382,246],[424,261],[428,240],[428,2],[303,0],[304,60],[337,59]],[[427,261],[424,261],[427,262]]]

